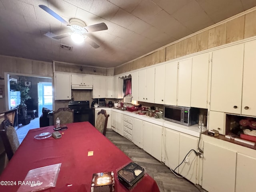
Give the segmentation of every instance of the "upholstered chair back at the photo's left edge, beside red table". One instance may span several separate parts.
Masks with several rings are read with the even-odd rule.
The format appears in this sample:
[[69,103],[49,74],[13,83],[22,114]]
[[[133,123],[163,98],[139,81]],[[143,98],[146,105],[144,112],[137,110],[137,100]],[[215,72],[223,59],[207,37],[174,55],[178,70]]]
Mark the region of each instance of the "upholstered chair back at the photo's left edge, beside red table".
[[2,122],[2,129],[0,129],[0,136],[4,144],[4,148],[5,148],[5,152],[8,157],[8,160],[12,158],[13,154],[16,152],[16,150],[20,146],[20,142],[19,142],[16,130],[10,124],[11,124],[10,121],[6,119]]

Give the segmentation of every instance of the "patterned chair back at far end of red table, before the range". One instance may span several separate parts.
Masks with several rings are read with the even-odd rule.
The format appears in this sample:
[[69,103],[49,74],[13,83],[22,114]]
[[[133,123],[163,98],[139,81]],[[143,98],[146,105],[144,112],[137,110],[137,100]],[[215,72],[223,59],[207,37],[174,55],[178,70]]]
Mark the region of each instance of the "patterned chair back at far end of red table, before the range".
[[60,124],[68,124],[74,122],[74,110],[69,109],[68,107],[60,107],[57,111],[52,112],[53,124],[56,125],[57,117],[60,119]]

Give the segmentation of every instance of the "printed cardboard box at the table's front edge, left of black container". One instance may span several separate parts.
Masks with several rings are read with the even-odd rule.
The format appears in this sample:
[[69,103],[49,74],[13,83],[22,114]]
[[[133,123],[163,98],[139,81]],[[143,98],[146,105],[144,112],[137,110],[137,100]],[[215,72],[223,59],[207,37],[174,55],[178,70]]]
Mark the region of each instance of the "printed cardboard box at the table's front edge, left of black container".
[[114,172],[100,172],[92,175],[91,192],[114,192]]

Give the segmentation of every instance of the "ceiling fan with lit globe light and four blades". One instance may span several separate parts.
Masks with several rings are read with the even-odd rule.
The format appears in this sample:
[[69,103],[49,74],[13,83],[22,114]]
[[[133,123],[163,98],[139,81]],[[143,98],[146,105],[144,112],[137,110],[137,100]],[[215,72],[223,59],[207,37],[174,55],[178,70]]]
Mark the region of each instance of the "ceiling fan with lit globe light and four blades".
[[86,42],[88,42],[92,47],[94,47],[94,48],[100,47],[98,44],[96,44],[96,42],[94,42],[92,39],[88,38],[88,36],[86,36],[85,34],[90,33],[90,32],[107,30],[108,26],[106,26],[105,23],[98,23],[98,24],[86,26],[86,24],[82,20],[76,19],[76,18],[72,18],[69,20],[69,22],[67,22],[61,16],[56,14],[53,10],[48,8],[47,6],[39,5],[39,7],[42,8],[44,11],[46,11],[51,16],[58,19],[60,22],[62,22],[63,24],[65,24],[72,30],[72,32],[70,32],[70,33],[64,33],[64,34],[53,35],[53,36],[51,35],[51,36],[49,36],[50,38],[62,39],[62,38],[71,36],[71,39],[76,43],[82,43],[86,39]]

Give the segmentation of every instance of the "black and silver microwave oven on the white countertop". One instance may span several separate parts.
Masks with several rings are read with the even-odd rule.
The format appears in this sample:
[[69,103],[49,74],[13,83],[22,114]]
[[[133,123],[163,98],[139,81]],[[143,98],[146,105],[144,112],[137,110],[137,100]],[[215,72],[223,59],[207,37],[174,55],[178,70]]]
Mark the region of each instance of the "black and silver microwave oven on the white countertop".
[[174,123],[191,126],[198,123],[199,109],[164,105],[164,119]]

